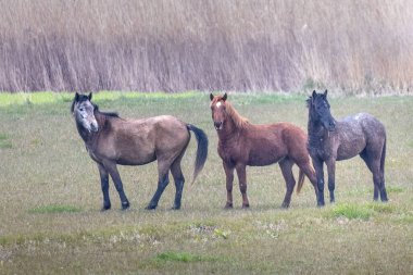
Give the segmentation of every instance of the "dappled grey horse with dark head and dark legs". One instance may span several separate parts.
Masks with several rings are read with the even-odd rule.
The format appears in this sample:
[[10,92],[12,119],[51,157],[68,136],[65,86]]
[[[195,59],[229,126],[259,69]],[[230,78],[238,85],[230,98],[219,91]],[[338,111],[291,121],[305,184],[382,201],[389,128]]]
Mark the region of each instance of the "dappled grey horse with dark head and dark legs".
[[358,154],[373,173],[374,200],[380,193],[387,201],[385,187],[386,130],[384,125],[367,113],[360,113],[336,121],[330,113],[327,90],[306,100],[309,108],[309,152],[317,176],[317,205],[324,205],[324,172],[327,165],[330,202],[335,201],[336,161],[348,160]]

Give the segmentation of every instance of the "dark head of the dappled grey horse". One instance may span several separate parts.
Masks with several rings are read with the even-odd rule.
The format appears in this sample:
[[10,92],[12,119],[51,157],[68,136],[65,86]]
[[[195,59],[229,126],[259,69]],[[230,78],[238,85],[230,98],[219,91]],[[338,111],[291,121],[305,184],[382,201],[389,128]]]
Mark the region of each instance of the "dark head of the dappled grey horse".
[[325,90],[324,93],[317,93],[314,90],[313,95],[306,102],[310,110],[310,118],[313,122],[321,122],[323,127],[329,132],[336,129],[336,121],[334,120],[329,110],[327,90]]

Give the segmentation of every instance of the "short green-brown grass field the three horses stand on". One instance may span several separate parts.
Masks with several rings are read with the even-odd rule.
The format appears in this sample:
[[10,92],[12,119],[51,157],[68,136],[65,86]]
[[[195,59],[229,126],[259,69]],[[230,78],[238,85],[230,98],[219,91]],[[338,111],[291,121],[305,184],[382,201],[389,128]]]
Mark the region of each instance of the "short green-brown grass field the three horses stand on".
[[[98,170],[70,113],[68,93],[0,93],[0,274],[412,274],[413,98],[331,98],[333,114],[366,111],[388,132],[388,203],[374,203],[361,159],[337,164],[336,200],[323,209],[305,180],[289,210],[277,165],[248,168],[251,208],[226,200],[206,93],[95,96],[125,117],[173,114],[203,128],[209,160],[183,208],[171,211],[168,186],[155,211],[157,166],[121,167],[132,208],[100,212]],[[229,95],[253,123],[287,121],[306,128],[305,96]],[[187,183],[196,142],[183,160]],[[297,168],[295,174],[297,177]],[[236,182],[237,184],[237,182]],[[327,195],[328,196],[328,195]]]

